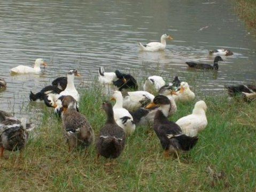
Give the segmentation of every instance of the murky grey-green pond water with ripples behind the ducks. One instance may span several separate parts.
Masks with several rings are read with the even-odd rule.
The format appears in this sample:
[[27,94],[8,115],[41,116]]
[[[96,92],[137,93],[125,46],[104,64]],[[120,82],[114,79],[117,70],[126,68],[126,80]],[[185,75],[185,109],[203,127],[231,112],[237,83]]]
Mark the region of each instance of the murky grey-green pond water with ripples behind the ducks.
[[[29,104],[30,90],[41,90],[68,69],[79,69],[82,78],[75,84],[80,87],[102,65],[106,71],[144,74],[146,69],[152,75],[159,65],[163,76],[182,79],[184,73],[202,73],[188,69],[185,61],[213,63],[208,50],[229,48],[235,54],[223,58],[218,73],[205,72],[201,87],[218,93],[224,84],[256,78],[256,38],[229,1],[1,0],[0,13],[0,77],[7,81],[0,107],[17,116],[40,112],[43,103]],[[159,41],[165,33],[174,40],[164,52],[139,52],[139,41]],[[32,65],[38,57],[49,63],[41,74],[11,76],[11,68]]]

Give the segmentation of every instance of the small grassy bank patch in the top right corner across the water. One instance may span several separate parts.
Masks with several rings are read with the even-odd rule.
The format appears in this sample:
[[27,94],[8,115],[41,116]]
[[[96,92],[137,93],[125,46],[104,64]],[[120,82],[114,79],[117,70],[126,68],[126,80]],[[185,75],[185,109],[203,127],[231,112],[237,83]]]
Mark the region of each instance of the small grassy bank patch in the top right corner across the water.
[[235,0],[235,10],[245,21],[249,30],[256,34],[256,1]]

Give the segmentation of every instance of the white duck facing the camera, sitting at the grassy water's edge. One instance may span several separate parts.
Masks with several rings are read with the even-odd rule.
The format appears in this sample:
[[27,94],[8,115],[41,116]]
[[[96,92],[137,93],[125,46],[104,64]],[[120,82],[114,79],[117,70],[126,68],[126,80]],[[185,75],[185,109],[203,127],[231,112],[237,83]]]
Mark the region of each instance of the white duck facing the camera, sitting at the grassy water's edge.
[[178,95],[173,95],[176,102],[186,103],[195,99],[195,93],[190,90],[187,82],[181,82],[180,88],[180,91],[177,92]]

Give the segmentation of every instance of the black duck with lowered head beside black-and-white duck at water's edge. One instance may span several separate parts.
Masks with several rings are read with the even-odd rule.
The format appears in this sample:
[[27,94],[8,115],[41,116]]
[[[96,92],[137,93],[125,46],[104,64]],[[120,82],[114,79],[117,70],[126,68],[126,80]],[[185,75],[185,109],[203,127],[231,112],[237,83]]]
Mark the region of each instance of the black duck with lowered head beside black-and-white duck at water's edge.
[[113,81],[115,87],[118,88],[119,91],[122,90],[138,90],[138,84],[136,79],[131,76],[131,74],[121,73],[119,70],[115,70],[115,75],[118,80]]

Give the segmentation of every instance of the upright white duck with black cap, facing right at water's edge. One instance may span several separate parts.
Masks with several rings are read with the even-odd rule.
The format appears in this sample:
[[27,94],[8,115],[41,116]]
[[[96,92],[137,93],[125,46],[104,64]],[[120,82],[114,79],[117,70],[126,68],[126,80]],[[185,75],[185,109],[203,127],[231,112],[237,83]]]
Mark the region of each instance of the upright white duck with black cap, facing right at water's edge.
[[81,75],[77,73],[76,69],[69,70],[67,73],[67,87],[64,91],[61,91],[59,95],[71,95],[74,97],[75,101],[79,101],[79,94],[75,89],[74,78],[75,76],[80,77]]

